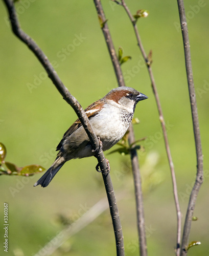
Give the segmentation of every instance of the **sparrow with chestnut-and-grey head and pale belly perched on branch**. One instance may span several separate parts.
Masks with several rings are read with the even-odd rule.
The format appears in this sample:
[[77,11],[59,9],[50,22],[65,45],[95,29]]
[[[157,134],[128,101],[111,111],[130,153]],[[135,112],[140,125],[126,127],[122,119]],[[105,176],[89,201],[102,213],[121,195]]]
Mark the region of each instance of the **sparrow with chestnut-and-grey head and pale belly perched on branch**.
[[[131,87],[118,87],[84,110],[102,142],[103,151],[109,150],[123,138],[133,118],[136,104],[147,98]],[[34,186],[48,186],[66,161],[96,154],[79,119],[65,132],[56,151],[59,152],[54,163]]]

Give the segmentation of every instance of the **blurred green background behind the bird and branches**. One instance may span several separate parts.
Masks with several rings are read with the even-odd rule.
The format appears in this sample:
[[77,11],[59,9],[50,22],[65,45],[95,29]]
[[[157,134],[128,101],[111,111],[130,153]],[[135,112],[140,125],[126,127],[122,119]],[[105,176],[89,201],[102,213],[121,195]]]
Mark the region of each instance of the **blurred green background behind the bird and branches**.
[[[196,155],[184,55],[176,1],[126,1],[131,13],[147,9],[138,20],[146,52],[153,51],[153,73],[166,123],[178,183],[182,220],[195,180]],[[208,207],[208,1],[184,1],[188,18],[192,65],[196,87],[200,132],[204,154],[204,183],[197,198],[190,241],[201,241],[188,255],[209,254]],[[140,102],[134,126],[143,176],[145,221],[149,255],[174,255],[176,212],[171,175],[162,139],[156,103],[147,69],[136,45],[132,26],[120,6],[102,1],[108,25],[118,49],[132,56],[122,66],[126,85],[146,94]],[[22,29],[34,38],[53,63],[68,90],[83,108],[117,87],[93,1],[22,0],[16,4]],[[40,164],[49,168],[55,148],[77,118],[62,99],[40,63],[11,32],[6,8],[0,1],[1,142],[7,161],[18,166]],[[79,38],[76,40],[76,38]],[[80,43],[80,44],[79,44]],[[114,149],[117,146],[114,146]],[[129,156],[107,155],[124,232],[126,255],[138,255],[136,216]],[[1,176],[0,218],[3,202],[9,204],[9,252],[35,255],[63,229],[59,216],[77,220],[87,209],[105,198],[95,158],[67,162],[47,188],[33,187],[41,174],[30,178]],[[0,228],[1,254],[4,232]],[[6,252],[4,252],[6,253]],[[76,233],[53,255],[115,255],[109,210]],[[2,254],[3,255],[3,254]]]

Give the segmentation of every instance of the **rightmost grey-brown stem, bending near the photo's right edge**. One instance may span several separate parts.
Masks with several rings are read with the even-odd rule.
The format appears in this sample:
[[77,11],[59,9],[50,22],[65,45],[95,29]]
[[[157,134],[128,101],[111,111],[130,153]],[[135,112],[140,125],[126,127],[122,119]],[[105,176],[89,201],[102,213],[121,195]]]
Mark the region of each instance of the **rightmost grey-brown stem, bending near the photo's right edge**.
[[200,139],[200,130],[199,130],[199,118],[197,112],[197,103],[195,95],[195,87],[192,73],[192,61],[190,54],[190,41],[189,33],[187,26],[187,18],[185,16],[183,0],[177,0],[178,11],[181,23],[181,31],[183,37],[183,48],[184,48],[184,57],[185,57],[185,67],[187,70],[187,80],[188,80],[188,89],[190,94],[190,104],[192,111],[192,121],[193,121],[193,131],[195,137],[195,147],[196,147],[196,157],[197,157],[197,174],[195,184],[191,191],[190,200],[187,208],[187,215],[185,217],[184,227],[183,227],[183,236],[181,244],[181,255],[187,255],[187,246],[189,244],[189,236],[192,224],[192,217],[195,209],[197,195],[200,189],[200,186],[203,182],[203,155],[202,155],[202,146]]

